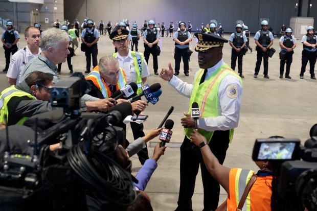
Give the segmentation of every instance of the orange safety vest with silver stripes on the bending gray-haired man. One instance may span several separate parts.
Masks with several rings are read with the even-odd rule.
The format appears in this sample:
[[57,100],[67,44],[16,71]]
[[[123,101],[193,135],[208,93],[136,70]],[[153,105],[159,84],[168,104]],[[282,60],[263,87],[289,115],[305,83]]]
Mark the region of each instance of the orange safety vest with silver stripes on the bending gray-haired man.
[[[108,87],[105,80],[100,76],[98,65],[95,66],[93,71],[87,75],[86,80],[92,81],[95,84],[95,86],[102,92],[104,98],[109,98],[111,96],[110,88]],[[126,84],[127,78],[125,76],[125,72],[122,68],[120,68],[119,79],[116,85],[117,90],[121,89]]]

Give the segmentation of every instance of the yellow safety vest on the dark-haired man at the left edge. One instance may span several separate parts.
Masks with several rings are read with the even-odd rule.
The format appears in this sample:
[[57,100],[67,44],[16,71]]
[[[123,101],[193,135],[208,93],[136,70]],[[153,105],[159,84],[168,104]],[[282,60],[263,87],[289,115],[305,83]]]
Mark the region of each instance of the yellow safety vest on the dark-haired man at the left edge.
[[[12,97],[23,97],[27,96],[33,100],[36,98],[32,95],[30,95],[28,92],[19,90],[14,87],[14,85],[10,86],[9,88],[6,88],[3,90],[0,94],[0,122],[1,123],[7,123],[9,118],[9,110],[8,110],[8,102]],[[5,115],[7,115],[7,119],[5,120]],[[23,123],[28,119],[28,117],[23,117],[21,120],[19,120],[16,124],[17,125],[23,125]]]

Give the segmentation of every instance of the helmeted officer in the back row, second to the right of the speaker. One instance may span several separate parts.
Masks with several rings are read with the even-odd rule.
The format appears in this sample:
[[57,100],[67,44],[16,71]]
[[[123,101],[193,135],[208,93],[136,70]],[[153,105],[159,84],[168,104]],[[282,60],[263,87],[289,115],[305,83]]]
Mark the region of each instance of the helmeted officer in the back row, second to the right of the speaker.
[[258,78],[258,74],[260,71],[260,66],[263,58],[263,66],[264,66],[264,78],[269,79],[268,73],[268,55],[269,55],[269,47],[273,45],[273,34],[267,30],[268,22],[263,20],[261,22],[262,29],[259,30],[255,36],[255,43],[257,45],[257,63],[254,69],[254,78]]

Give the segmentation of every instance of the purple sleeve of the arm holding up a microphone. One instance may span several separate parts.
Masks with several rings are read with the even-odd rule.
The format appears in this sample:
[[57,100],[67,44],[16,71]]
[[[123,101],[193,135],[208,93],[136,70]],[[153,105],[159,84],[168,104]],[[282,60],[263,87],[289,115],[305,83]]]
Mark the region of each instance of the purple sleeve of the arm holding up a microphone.
[[139,183],[134,183],[134,186],[137,187],[139,190],[144,191],[147,183],[149,182],[153,172],[157,168],[157,163],[154,159],[150,158],[144,162],[143,167],[139,170],[137,178]]

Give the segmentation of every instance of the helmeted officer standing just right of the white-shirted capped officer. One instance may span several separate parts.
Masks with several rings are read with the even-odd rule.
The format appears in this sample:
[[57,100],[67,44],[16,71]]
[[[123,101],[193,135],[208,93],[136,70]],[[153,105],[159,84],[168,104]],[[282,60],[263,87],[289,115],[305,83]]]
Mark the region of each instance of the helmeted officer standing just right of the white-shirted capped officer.
[[143,35],[144,58],[146,63],[149,63],[149,57],[150,54],[152,54],[154,74],[159,75],[159,73],[157,73],[157,69],[159,69],[159,66],[157,65],[156,46],[157,43],[160,41],[160,34],[157,32],[156,28],[154,28],[154,25],[154,20],[149,20],[149,29],[147,29]]

